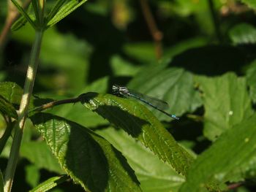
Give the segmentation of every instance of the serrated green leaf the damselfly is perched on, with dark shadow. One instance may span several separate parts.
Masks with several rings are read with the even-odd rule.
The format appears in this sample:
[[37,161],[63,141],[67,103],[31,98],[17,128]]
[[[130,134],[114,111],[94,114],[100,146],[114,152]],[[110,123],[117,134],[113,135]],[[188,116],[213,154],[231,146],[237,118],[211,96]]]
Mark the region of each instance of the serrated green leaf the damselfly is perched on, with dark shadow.
[[142,104],[109,94],[85,93],[80,97],[85,107],[139,139],[162,161],[173,166],[176,172],[187,174],[193,161],[192,156],[178,145],[159,120]]

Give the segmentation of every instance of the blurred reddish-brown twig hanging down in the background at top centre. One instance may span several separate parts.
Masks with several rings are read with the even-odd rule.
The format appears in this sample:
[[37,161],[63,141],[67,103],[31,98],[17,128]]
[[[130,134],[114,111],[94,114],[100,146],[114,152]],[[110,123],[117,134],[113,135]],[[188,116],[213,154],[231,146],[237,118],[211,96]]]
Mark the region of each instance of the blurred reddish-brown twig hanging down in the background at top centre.
[[151,9],[148,6],[147,0],[140,0],[141,8],[144,18],[148,25],[149,31],[155,43],[156,57],[157,59],[162,57],[162,32],[157,28],[157,23],[154,20]]

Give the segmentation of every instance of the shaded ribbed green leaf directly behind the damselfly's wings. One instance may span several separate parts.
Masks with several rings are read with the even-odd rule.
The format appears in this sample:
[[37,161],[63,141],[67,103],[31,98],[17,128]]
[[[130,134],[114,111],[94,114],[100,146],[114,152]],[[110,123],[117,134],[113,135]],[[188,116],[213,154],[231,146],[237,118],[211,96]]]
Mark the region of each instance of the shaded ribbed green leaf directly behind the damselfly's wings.
[[[170,106],[167,112],[176,116],[193,112],[202,104],[192,74],[184,69],[167,68],[167,62],[143,68],[128,88],[167,101]],[[162,112],[154,110],[154,114],[161,120],[170,120]]]

